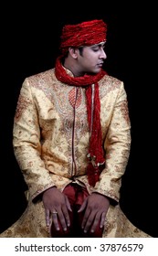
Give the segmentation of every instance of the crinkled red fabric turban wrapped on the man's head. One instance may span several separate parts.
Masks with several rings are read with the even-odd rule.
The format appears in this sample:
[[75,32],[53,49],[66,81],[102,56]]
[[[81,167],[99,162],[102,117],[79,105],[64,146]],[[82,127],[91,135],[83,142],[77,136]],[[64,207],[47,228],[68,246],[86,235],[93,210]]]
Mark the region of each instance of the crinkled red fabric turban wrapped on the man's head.
[[62,29],[60,49],[99,44],[106,41],[107,25],[102,19],[85,21],[77,25],[66,25]]

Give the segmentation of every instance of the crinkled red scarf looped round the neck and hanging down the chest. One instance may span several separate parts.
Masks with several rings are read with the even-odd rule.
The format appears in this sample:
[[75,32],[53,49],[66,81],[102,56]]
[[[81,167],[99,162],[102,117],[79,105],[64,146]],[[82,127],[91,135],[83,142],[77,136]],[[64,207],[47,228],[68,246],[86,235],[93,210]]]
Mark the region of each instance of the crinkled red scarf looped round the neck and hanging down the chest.
[[[87,174],[90,186],[94,187],[96,182],[100,180],[100,172],[105,164],[100,126],[100,95],[98,81],[103,78],[106,72],[101,69],[100,72],[96,75],[85,74],[82,77],[71,77],[68,76],[66,70],[61,65],[60,58],[58,58],[56,61],[55,74],[57,79],[63,83],[66,83],[70,86],[86,88],[88,122],[90,127],[90,146],[89,153],[87,155],[89,165],[87,167]],[[93,103],[91,87],[92,84],[95,84]],[[92,105],[93,116],[91,116]]]

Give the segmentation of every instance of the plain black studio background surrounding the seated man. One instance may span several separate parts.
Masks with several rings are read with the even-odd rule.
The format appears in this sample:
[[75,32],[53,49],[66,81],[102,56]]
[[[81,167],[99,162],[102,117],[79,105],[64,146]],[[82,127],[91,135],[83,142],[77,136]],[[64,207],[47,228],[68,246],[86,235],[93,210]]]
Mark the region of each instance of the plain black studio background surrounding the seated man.
[[[120,1],[119,1],[120,2]],[[26,208],[26,184],[12,148],[13,118],[26,76],[54,67],[61,27],[93,18],[108,24],[109,74],[124,81],[132,122],[132,150],[122,177],[121,208],[138,228],[157,231],[156,71],[154,6],[102,3],[8,4],[1,8],[0,232]]]

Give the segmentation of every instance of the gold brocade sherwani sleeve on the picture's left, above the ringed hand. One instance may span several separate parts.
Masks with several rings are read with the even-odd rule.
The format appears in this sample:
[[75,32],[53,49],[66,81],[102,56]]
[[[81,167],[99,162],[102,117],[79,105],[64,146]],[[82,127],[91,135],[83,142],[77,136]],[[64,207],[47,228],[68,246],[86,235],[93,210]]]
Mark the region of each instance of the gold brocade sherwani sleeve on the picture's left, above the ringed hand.
[[42,191],[54,184],[41,159],[37,106],[27,79],[22,85],[17,101],[13,146],[30,196],[35,199]]

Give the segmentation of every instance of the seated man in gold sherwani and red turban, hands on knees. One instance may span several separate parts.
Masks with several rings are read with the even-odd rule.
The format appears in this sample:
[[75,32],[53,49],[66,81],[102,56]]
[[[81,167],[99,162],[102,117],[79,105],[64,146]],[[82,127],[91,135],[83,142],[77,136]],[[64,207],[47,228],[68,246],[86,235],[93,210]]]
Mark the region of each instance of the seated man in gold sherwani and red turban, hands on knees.
[[123,82],[102,65],[107,25],[66,25],[55,69],[26,78],[14,123],[28,206],[3,237],[145,237],[119,206],[131,146]]

